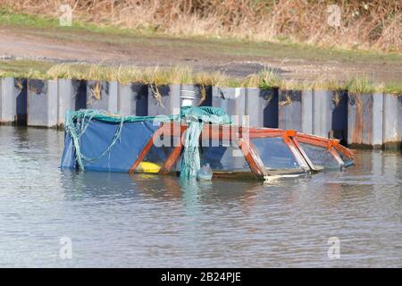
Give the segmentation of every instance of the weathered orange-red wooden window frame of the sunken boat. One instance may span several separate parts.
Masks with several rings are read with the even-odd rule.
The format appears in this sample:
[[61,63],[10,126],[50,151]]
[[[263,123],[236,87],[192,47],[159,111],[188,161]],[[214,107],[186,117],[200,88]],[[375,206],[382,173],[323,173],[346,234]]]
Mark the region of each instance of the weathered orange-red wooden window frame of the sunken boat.
[[[138,164],[141,163],[144,157],[147,155],[148,151],[155,144],[155,141],[161,137],[163,134],[168,134],[171,137],[175,137],[178,140],[177,146],[173,147],[171,154],[167,157],[163,163],[159,173],[167,174],[176,172],[173,167],[180,158],[181,151],[183,149],[184,134],[187,130],[188,125],[182,124],[180,122],[162,122],[161,126],[155,131],[154,135],[147,142],[146,146],[139,153],[137,160],[130,167],[131,172],[137,172],[136,168]],[[244,136],[246,135],[246,136]],[[339,143],[339,139],[325,139],[322,137],[308,135],[305,133],[298,132],[296,130],[281,130],[281,129],[271,129],[271,128],[249,128],[236,125],[214,125],[205,124],[203,130],[201,131],[200,139],[203,137],[213,140],[230,140],[231,142],[236,142],[239,149],[242,151],[250,170],[259,179],[264,179],[272,175],[277,175],[278,173],[272,173],[270,170],[264,166],[263,160],[258,155],[258,151],[251,141],[251,139],[258,138],[281,138],[284,143],[289,147],[292,155],[297,160],[297,163],[305,172],[318,172],[322,170],[319,166],[314,165],[312,160],[306,155],[306,151],[301,147],[300,143],[306,143],[313,145],[315,147],[323,147],[328,150],[328,152],[333,156],[338,162],[340,168],[345,166],[339,154],[353,160],[353,153],[347,148],[343,147]],[[285,172],[285,170],[284,170]],[[233,172],[214,172],[214,176],[220,176],[220,174],[225,174],[225,176],[230,176]],[[233,173],[234,174],[234,173]]]

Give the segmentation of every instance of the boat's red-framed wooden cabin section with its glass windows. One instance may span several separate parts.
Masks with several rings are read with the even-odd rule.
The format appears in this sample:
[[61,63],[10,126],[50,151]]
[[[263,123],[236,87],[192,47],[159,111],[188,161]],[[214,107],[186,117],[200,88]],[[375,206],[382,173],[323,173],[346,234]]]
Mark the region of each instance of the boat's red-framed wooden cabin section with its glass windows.
[[[161,122],[130,172],[147,172],[144,164],[159,164],[158,173],[180,172],[187,128],[180,122]],[[224,177],[297,175],[347,167],[354,160],[353,153],[340,145],[339,139],[237,125],[205,124],[199,147],[201,165],[209,164],[214,176]]]

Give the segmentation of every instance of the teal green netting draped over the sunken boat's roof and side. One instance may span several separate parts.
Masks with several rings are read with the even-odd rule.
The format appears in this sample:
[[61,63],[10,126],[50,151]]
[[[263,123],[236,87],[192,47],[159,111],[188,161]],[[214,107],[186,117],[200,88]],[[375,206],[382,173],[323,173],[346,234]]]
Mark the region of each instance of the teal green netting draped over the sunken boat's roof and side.
[[[105,151],[95,158],[82,154],[80,150],[80,138],[88,128],[89,122],[93,120],[118,123],[118,128],[113,136],[112,142]],[[230,116],[225,114],[221,108],[202,106],[182,107],[180,114],[169,116],[121,116],[110,114],[103,110],[81,109],[74,112],[67,112],[65,117],[65,132],[73,142],[75,156],[80,170],[85,170],[87,164],[91,164],[105,156],[113,146],[121,139],[121,130],[124,122],[188,122],[188,130],[184,140],[184,151],[181,160],[180,178],[197,177],[200,169],[198,142],[201,130],[205,122],[214,124],[231,124]],[[84,164],[85,162],[85,164]]]

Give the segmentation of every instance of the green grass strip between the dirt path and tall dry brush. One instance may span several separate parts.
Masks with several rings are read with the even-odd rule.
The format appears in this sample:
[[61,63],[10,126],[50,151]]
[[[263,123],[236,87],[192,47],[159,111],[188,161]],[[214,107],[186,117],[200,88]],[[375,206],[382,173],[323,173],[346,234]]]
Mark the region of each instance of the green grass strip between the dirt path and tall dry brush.
[[[27,12],[27,10],[23,10]],[[29,9],[28,9],[29,11]],[[60,26],[54,16],[16,12],[0,4],[0,27],[21,28],[31,36],[71,40],[88,43],[107,43],[117,46],[199,49],[226,56],[261,56],[277,59],[303,59],[306,61],[339,63],[402,63],[400,51],[379,51],[343,48],[341,46],[317,46],[312,42],[250,41],[246,38],[205,38],[195,35],[159,33],[154,29],[128,29],[113,24],[96,24],[75,19],[71,27]],[[180,39],[180,40],[179,40]]]

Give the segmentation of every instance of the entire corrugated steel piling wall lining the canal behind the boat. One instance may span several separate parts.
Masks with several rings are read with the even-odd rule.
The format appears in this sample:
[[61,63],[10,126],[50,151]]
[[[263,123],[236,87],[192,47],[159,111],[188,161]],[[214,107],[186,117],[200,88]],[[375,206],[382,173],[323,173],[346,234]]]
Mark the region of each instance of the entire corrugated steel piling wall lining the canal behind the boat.
[[[158,86],[95,80],[0,79],[0,123],[62,126],[68,110],[104,109],[123,115],[179,114],[183,96],[193,105],[221,107],[253,127],[301,130],[342,143],[400,148],[402,96],[345,91]],[[158,97],[160,98],[158,99]],[[203,98],[205,97],[205,98]],[[201,100],[201,99],[204,100]],[[159,104],[160,101],[162,105]],[[243,115],[248,122],[243,122]]]

